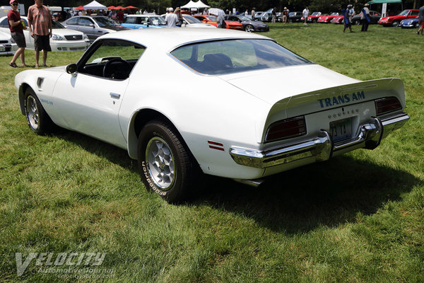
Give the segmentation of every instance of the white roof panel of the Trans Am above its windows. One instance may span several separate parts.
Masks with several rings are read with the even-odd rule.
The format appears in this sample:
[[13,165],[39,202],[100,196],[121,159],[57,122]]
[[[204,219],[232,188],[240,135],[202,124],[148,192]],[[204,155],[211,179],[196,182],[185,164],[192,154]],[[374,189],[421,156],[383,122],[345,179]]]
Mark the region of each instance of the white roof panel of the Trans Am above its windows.
[[165,50],[177,46],[208,40],[226,39],[267,39],[269,37],[246,33],[240,30],[224,28],[143,28],[138,30],[122,30],[117,33],[108,33],[100,38],[116,38],[139,43],[146,47]]

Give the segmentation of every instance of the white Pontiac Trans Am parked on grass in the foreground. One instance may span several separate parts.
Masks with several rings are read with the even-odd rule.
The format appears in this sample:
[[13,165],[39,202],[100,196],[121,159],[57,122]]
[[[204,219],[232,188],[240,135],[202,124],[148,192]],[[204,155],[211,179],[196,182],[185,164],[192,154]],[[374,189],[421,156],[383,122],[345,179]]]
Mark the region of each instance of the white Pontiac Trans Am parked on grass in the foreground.
[[103,35],[76,64],[22,71],[15,84],[33,132],[58,125],[126,149],[168,202],[188,197],[201,172],[257,185],[375,149],[409,119],[400,79],[351,79],[226,29]]

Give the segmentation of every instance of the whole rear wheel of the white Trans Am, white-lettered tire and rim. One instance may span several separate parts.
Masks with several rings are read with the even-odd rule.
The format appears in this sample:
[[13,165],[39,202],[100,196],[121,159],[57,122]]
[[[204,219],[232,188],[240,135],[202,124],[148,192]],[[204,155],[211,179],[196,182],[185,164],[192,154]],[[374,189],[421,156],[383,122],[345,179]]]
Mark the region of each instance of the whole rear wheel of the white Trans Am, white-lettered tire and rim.
[[170,203],[190,197],[199,169],[177,129],[169,122],[153,120],[141,129],[138,159],[141,180],[148,191],[156,192]]

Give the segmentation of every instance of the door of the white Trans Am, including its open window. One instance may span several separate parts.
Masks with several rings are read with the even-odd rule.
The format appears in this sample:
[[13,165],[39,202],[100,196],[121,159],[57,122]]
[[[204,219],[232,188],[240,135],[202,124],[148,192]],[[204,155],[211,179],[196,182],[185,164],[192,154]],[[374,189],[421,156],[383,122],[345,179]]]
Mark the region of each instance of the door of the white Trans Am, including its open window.
[[[126,129],[119,125],[119,108],[129,74],[143,51],[143,46],[126,40],[96,42],[78,62],[78,71],[57,80],[52,101],[57,112],[54,117],[61,120],[56,122],[125,148]],[[119,68],[124,74],[113,76]]]

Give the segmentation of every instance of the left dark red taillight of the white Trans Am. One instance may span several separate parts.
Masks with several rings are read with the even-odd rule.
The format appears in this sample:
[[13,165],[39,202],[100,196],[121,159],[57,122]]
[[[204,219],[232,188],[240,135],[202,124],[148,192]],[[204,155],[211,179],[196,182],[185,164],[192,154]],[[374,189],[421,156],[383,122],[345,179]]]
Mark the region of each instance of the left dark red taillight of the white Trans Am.
[[269,125],[265,134],[265,142],[275,141],[277,139],[289,139],[306,134],[305,117],[294,117]]

